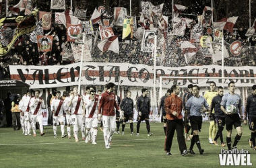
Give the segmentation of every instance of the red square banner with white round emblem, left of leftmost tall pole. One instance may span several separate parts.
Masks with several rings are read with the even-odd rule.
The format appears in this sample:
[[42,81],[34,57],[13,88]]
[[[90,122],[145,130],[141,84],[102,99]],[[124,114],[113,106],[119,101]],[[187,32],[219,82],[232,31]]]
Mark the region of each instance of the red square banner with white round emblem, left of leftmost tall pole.
[[82,33],[82,24],[68,24],[67,23],[67,41],[75,42],[77,35]]

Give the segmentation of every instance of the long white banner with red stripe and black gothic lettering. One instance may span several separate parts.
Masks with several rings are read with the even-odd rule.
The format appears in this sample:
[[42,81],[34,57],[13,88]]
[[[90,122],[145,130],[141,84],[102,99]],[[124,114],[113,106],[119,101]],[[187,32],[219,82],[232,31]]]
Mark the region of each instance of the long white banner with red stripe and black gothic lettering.
[[[10,65],[11,79],[20,80],[30,85],[32,89],[66,87],[77,85],[79,81],[80,62],[70,65],[55,66],[20,66]],[[222,77],[222,67],[215,65],[187,66],[187,67],[156,67],[156,86],[159,87],[160,76],[179,77]],[[82,85],[105,85],[118,83],[130,86],[153,86],[154,67],[148,65],[132,65],[128,63],[112,62],[84,62],[82,69]],[[255,67],[224,67],[225,77],[256,77]],[[227,86],[230,79],[164,79],[162,87],[170,88],[180,83],[181,87],[189,84],[209,86],[210,81],[215,81],[217,86]],[[253,85],[256,79],[235,79],[236,87]]]

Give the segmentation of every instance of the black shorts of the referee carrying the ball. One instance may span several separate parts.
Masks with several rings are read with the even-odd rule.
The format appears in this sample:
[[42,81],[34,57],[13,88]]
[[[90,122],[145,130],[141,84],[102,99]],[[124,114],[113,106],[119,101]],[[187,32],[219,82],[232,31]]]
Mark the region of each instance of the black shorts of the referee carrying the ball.
[[238,126],[242,126],[241,118],[238,114],[226,115],[225,122],[226,122],[226,130],[232,130],[233,125],[234,125],[234,128]]

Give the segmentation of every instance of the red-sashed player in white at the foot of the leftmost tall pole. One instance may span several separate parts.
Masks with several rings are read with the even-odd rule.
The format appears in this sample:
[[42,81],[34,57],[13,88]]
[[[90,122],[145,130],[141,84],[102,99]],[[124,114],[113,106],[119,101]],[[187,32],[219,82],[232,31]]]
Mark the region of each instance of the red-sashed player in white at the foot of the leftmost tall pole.
[[82,121],[84,120],[84,101],[82,96],[77,93],[77,87],[73,88],[74,95],[70,96],[69,107],[71,107],[71,118],[73,124],[73,132],[75,136],[75,142],[79,142],[77,132],[82,128]]

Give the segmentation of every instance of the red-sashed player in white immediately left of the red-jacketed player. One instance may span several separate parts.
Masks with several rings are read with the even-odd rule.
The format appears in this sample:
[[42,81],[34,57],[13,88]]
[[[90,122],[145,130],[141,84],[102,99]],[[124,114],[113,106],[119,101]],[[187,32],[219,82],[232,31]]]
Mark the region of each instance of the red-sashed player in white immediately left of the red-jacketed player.
[[85,108],[86,108],[86,143],[89,140],[89,134],[92,132],[92,144],[96,144],[96,137],[98,134],[98,97],[99,95],[95,94],[94,90],[90,91],[90,99],[86,99]]

